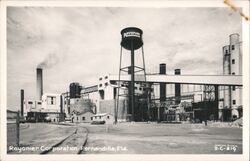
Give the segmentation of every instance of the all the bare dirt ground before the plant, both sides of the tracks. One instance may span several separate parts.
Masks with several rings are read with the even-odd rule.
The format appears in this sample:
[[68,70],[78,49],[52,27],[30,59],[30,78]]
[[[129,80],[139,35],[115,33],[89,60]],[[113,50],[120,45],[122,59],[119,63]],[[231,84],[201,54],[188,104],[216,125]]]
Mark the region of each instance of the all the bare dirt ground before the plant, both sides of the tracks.
[[[118,123],[116,125],[48,123],[21,125],[22,147],[51,146],[76,128],[87,129],[82,154],[241,154],[242,128],[204,124]],[[86,130],[85,130],[86,131]],[[84,135],[85,136],[85,135]],[[75,146],[74,142],[67,145]],[[66,144],[65,144],[66,145]],[[41,151],[12,152],[39,154]],[[62,152],[58,152],[62,154]],[[66,154],[66,153],[65,153]]]

